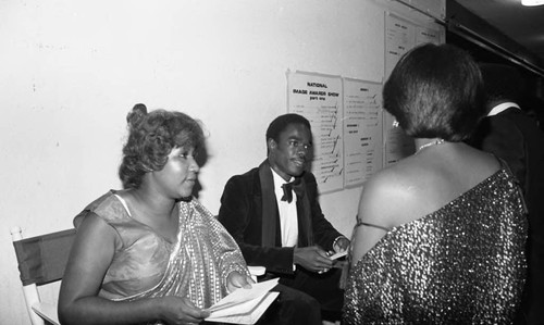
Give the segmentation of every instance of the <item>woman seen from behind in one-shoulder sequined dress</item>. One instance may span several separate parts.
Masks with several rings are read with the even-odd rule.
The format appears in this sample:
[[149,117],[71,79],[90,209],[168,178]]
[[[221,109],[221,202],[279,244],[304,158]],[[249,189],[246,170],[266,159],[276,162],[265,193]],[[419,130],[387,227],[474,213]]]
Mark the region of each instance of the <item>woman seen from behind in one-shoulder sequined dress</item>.
[[343,324],[507,324],[526,277],[526,210],[506,164],[462,142],[483,115],[458,48],[408,52],[384,108],[417,152],[364,184]]

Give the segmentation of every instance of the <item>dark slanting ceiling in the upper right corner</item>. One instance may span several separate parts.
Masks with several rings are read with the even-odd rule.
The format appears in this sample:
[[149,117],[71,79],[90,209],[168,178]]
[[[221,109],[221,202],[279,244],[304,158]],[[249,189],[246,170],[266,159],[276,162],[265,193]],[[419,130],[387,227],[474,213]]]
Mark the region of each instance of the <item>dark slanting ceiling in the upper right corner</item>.
[[[523,7],[521,0],[447,0],[449,1],[457,2],[503,34],[499,38],[492,37],[492,45],[498,43],[508,49],[510,54],[521,57],[523,61],[544,71],[544,5]],[[482,30],[481,27],[475,28]],[[490,39],[490,33],[485,34],[483,36]]]

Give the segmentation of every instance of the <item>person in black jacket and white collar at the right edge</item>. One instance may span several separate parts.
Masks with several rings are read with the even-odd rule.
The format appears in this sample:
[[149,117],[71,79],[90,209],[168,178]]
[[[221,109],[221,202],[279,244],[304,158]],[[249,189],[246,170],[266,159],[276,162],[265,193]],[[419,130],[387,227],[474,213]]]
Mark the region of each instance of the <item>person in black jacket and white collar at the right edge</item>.
[[529,211],[528,278],[518,324],[544,324],[544,134],[518,104],[516,68],[481,64],[487,116],[471,145],[504,159],[519,180]]

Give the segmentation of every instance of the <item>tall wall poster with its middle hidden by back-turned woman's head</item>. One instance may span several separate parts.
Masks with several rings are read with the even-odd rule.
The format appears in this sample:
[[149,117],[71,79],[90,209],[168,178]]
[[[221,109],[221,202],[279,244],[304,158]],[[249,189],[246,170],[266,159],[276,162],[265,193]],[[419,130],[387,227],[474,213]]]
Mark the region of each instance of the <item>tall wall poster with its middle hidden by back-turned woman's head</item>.
[[[403,54],[416,46],[416,26],[392,13],[385,13],[385,79]],[[413,153],[413,140],[397,127],[395,117],[383,116],[384,166]]]

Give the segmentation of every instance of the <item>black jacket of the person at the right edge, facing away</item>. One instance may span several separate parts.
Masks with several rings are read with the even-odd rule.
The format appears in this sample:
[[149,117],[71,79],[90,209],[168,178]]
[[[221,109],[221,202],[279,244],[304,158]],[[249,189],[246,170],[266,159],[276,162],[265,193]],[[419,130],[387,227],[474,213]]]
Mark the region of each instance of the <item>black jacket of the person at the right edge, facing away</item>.
[[518,178],[529,210],[529,278],[522,309],[527,324],[544,324],[544,134],[517,108],[484,117],[471,145],[504,159]]

